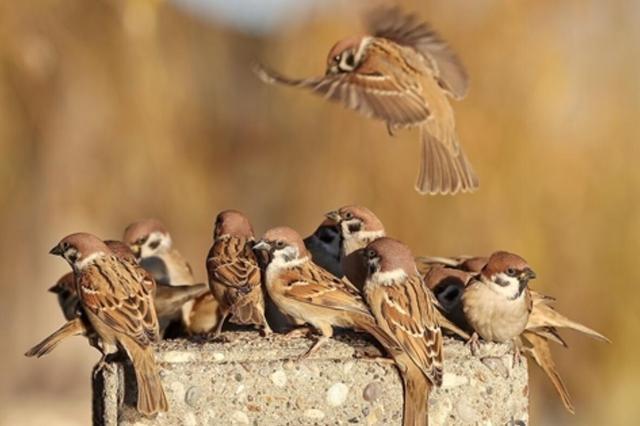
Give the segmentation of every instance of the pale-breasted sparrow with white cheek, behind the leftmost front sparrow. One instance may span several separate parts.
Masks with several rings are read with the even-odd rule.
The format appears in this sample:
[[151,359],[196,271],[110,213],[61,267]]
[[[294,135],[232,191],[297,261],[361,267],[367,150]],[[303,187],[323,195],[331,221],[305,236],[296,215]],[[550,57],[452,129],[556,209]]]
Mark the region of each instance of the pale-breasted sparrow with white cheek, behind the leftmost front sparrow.
[[[144,219],[130,224],[124,231],[123,241],[134,252],[140,266],[151,273],[158,288],[191,285],[207,287],[206,284],[196,283],[191,265],[173,248],[171,235],[159,220]],[[200,294],[200,290],[194,291],[193,294]],[[181,297],[178,297],[176,302],[180,299]],[[163,321],[163,335],[176,337],[182,334],[184,329],[189,329],[193,301],[188,299],[179,307],[181,312],[175,318],[167,323]]]

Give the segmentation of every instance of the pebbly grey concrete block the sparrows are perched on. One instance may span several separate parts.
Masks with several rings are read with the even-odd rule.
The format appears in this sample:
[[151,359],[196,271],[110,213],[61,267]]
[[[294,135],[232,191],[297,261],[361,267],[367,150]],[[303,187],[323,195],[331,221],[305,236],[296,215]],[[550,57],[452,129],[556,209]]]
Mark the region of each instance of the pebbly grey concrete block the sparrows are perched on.
[[[364,340],[338,336],[308,359],[306,338],[225,333],[228,342],[165,341],[156,358],[170,411],[135,411],[131,367],[108,363],[94,374],[100,425],[400,425],[402,385],[395,367],[371,358]],[[429,401],[431,425],[525,425],[527,366],[509,346],[485,343],[476,356],[445,339],[444,384]]]

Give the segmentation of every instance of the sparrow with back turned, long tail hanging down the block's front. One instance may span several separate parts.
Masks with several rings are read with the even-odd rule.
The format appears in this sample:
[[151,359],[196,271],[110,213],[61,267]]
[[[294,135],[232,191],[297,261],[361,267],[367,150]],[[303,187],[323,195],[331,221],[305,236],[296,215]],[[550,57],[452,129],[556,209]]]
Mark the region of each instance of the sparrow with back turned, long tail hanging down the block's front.
[[401,350],[392,353],[404,382],[405,425],[427,425],[432,385],[442,384],[442,333],[435,299],[418,274],[407,246],[379,238],[362,252],[364,298],[376,323]]

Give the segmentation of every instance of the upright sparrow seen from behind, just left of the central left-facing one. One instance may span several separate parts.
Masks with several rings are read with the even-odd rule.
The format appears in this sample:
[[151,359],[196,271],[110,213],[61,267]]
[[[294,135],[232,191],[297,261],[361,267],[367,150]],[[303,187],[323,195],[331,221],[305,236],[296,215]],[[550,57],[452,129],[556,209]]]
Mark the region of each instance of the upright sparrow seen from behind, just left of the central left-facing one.
[[227,317],[240,325],[255,325],[265,333],[271,328],[264,314],[264,293],[260,267],[253,253],[253,228],[236,210],[218,214],[214,241],[207,255],[209,288],[219,303],[220,320],[215,334]]

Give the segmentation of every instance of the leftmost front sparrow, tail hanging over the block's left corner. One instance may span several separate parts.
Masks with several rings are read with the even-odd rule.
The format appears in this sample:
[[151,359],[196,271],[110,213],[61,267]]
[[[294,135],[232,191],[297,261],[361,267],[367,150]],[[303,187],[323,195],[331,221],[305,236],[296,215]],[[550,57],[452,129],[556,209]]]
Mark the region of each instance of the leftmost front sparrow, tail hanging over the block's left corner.
[[[91,234],[71,234],[50,253],[64,257],[73,268],[76,293],[88,323],[100,337],[103,358],[122,349],[131,360],[138,385],[138,411],[148,416],[167,411],[151,346],[159,338],[153,281]],[[78,326],[70,325],[74,321],[77,324],[78,319],[61,330],[68,327],[66,333],[77,332]],[[27,356],[46,353],[39,350],[42,348],[46,349],[46,344],[37,345]]]

